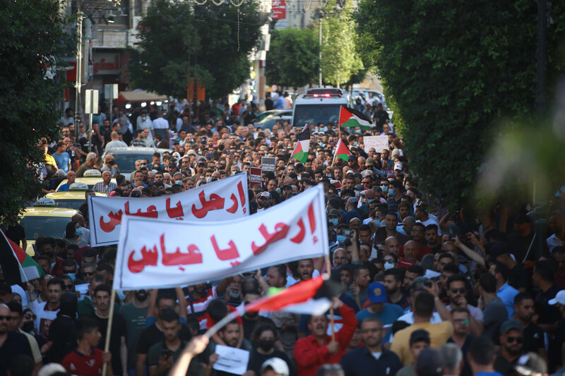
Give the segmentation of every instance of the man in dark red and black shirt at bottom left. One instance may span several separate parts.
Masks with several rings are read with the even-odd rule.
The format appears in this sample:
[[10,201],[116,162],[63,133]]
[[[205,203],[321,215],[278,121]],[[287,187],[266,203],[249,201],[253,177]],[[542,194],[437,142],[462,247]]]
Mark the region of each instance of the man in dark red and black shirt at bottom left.
[[112,354],[96,348],[102,334],[97,323],[89,318],[78,320],[78,346],[66,354],[61,362],[65,370],[77,376],[100,376],[102,366],[107,363],[106,375],[112,375]]

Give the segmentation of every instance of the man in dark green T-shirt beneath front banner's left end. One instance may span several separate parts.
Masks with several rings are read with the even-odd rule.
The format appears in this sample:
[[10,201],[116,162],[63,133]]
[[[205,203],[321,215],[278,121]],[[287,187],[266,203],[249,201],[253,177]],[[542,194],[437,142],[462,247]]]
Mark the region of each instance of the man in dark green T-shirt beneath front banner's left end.
[[[141,332],[145,329],[145,316],[148,310],[148,297],[150,290],[133,291],[133,301],[121,306],[119,313],[126,320],[126,347],[135,348],[139,341]],[[136,372],[136,352],[128,351],[127,360],[128,374],[134,375]]]

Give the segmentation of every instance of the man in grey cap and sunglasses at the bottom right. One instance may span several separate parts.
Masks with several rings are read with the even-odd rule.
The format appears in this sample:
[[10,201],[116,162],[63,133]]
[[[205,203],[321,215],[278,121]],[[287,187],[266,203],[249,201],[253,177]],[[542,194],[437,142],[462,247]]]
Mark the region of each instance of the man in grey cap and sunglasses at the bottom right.
[[516,375],[514,366],[523,354],[523,327],[516,320],[508,320],[500,327],[500,350],[494,360],[494,370],[504,376]]

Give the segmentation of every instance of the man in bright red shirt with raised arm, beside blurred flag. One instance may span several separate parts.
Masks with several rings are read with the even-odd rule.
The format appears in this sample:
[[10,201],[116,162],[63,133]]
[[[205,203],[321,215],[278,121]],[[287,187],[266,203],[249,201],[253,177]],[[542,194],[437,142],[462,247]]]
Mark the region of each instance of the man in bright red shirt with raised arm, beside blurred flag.
[[335,334],[335,341],[328,336],[326,315],[311,316],[308,328],[311,334],[296,341],[294,357],[298,376],[314,376],[316,370],[326,363],[339,363],[345,353],[355,329],[357,319],[355,311],[343,304],[338,298],[332,299],[332,306],[343,317],[343,327]]

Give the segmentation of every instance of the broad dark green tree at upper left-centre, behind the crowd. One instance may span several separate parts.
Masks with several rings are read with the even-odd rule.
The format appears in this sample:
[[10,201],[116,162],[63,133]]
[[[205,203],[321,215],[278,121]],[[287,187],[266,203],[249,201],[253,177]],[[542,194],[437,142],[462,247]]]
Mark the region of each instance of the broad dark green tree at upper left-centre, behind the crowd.
[[260,36],[256,4],[194,5],[157,0],[148,8],[130,49],[132,86],[183,98],[196,76],[206,95],[220,97],[249,78],[248,56]]

